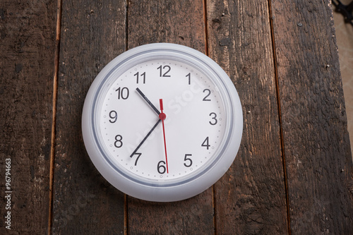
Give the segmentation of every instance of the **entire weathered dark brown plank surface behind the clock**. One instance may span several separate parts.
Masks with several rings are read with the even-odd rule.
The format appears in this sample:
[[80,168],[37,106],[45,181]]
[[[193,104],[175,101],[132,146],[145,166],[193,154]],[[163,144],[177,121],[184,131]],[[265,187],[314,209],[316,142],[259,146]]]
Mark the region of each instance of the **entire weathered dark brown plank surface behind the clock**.
[[[349,234],[353,169],[331,11],[317,0],[1,2],[0,172],[11,157],[14,217],[11,231],[1,220],[0,233]],[[208,54],[243,106],[234,164],[213,188],[179,203],[110,186],[80,131],[97,73],[152,42]]]

